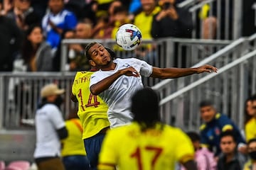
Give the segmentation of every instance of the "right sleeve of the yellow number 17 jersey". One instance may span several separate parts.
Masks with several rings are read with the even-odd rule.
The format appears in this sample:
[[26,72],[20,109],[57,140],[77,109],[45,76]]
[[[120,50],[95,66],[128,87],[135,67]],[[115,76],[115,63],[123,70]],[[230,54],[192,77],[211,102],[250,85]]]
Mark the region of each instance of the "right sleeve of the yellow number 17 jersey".
[[191,140],[181,130],[177,130],[176,136],[176,159],[182,164],[193,160],[194,149]]

